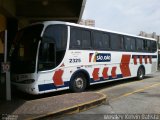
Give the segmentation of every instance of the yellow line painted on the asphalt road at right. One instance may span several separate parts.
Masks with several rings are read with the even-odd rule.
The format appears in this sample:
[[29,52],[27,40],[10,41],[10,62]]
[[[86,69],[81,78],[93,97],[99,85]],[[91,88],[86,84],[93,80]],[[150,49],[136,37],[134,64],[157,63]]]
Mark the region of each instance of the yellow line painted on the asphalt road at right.
[[119,97],[116,97],[116,98],[111,99],[111,101],[120,99],[120,98],[122,98],[122,97],[127,97],[127,96],[129,96],[129,95],[132,95],[132,94],[135,94],[135,93],[138,93],[138,92],[142,92],[142,91],[145,91],[145,90],[147,90],[147,89],[157,87],[157,86],[159,86],[159,85],[160,85],[160,83],[152,84],[152,85],[146,86],[146,87],[144,87],[144,88],[135,90],[135,91],[133,91],[133,92],[125,93],[125,94],[123,94],[123,95],[121,95],[121,96],[119,96]]

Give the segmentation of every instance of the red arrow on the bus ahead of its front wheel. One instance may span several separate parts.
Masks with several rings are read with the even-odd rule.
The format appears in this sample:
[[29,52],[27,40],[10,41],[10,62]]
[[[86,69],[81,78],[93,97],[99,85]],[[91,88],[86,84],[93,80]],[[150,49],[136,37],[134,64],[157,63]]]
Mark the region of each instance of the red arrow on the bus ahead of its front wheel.
[[62,86],[64,82],[62,80],[63,70],[59,69],[54,73],[53,82],[55,86]]

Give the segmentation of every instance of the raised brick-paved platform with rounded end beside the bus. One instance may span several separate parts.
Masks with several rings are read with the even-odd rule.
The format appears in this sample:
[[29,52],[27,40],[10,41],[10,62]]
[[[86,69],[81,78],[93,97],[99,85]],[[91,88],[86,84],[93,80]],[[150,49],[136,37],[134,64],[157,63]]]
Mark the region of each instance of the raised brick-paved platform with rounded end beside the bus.
[[[38,119],[47,116],[57,117],[70,113],[77,113],[100,105],[106,101],[102,93],[83,92],[68,93],[36,100],[12,100],[0,102],[2,118]],[[7,115],[6,115],[7,114]]]

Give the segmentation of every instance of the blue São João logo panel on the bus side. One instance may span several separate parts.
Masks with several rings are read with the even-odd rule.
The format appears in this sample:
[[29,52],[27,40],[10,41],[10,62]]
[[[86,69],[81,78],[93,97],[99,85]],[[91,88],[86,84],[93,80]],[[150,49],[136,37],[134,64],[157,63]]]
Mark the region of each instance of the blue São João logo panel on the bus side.
[[[94,56],[94,57],[93,57]],[[90,53],[89,54],[89,62],[110,62],[111,61],[111,54],[109,53]]]

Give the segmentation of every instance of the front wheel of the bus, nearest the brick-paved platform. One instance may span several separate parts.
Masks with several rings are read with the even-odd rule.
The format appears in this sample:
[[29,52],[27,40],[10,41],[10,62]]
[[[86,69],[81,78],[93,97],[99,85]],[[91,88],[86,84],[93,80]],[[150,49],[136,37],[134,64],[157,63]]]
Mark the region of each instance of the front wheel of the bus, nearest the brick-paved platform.
[[83,92],[87,86],[86,78],[83,74],[76,74],[71,78],[70,89],[73,92]]

